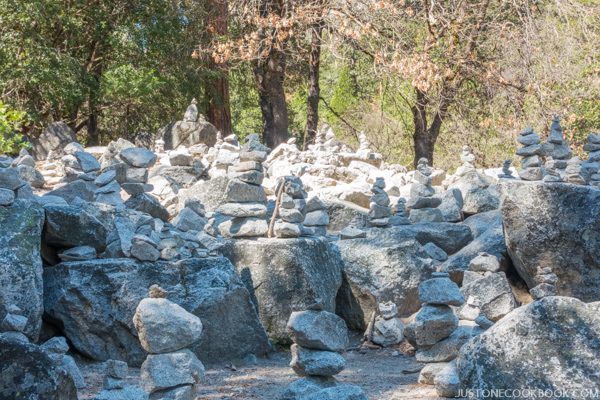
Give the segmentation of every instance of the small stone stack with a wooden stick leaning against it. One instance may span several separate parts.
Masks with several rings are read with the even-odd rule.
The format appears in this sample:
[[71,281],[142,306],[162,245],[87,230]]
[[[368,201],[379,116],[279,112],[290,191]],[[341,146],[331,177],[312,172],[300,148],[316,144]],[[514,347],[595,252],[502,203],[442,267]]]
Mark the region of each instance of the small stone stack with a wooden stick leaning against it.
[[273,233],[278,238],[295,238],[302,234],[302,222],[306,208],[306,192],[302,181],[295,176],[286,176],[279,183],[282,185],[277,220],[273,225]]

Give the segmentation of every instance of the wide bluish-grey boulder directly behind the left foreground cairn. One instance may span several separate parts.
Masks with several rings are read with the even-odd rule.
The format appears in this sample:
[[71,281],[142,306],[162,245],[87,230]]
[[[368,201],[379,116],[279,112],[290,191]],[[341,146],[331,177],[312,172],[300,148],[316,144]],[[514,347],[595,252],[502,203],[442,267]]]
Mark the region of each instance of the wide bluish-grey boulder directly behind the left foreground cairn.
[[261,356],[269,349],[250,294],[222,257],[155,263],[97,259],[47,267],[45,311],[85,356],[139,366],[146,353],[133,315],[156,282],[171,301],[202,320],[202,337],[192,347],[202,361]]

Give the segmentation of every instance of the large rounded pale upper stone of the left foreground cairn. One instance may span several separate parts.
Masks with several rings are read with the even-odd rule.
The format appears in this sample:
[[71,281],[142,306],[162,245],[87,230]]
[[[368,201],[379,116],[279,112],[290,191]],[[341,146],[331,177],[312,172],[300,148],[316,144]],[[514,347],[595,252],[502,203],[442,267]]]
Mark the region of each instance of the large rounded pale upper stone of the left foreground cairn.
[[168,353],[191,346],[202,334],[200,318],[161,298],[143,299],[133,324],[140,343],[149,353]]

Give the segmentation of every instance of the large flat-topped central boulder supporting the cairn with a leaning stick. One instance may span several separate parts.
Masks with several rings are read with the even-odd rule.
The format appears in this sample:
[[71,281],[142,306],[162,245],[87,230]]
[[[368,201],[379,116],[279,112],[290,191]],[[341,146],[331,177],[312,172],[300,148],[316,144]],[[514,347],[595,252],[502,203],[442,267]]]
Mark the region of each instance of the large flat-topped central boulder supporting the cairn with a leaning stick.
[[252,294],[270,337],[289,342],[292,311],[335,311],[342,260],[324,238],[237,240],[224,254]]

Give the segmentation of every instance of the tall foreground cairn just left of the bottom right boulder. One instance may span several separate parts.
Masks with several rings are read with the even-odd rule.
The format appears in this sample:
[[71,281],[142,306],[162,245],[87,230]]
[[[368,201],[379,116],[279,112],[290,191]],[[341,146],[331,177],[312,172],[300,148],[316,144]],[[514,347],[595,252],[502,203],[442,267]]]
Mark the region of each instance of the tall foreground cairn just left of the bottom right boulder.
[[470,333],[459,328],[450,306],[461,306],[465,299],[445,272],[434,272],[431,279],[421,282],[418,293],[423,305],[404,335],[416,347],[417,361],[427,363],[419,382],[434,384],[439,396],[455,397],[460,381],[451,361],[458,356]]

